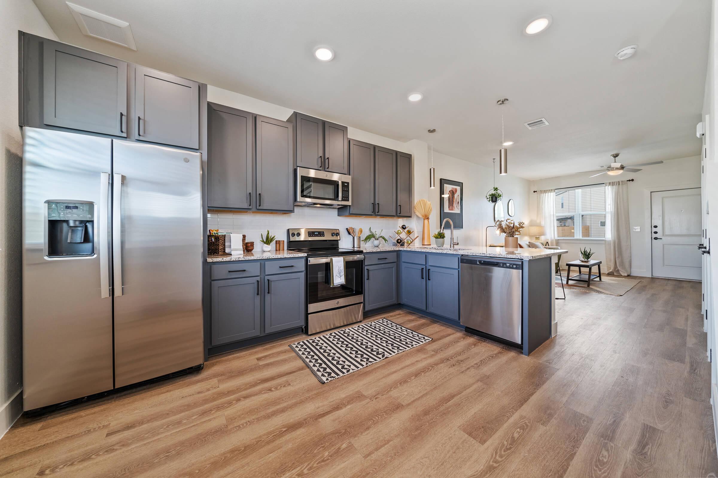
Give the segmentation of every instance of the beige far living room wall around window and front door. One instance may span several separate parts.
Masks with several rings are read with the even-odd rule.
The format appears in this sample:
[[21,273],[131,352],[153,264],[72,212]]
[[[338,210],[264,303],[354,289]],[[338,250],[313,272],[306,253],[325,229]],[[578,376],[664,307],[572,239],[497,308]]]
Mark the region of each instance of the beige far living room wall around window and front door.
[[[696,121],[697,123],[697,121]],[[686,128],[695,128],[687,125]],[[701,140],[696,138],[696,147],[700,148]],[[630,164],[626,158],[627,164]],[[567,188],[607,181],[601,176],[589,178],[595,173],[571,174],[556,178],[539,179],[531,182],[531,191],[541,189]],[[605,176],[605,175],[604,175]],[[612,177],[616,181],[616,176]],[[638,173],[623,173],[618,178],[634,178],[628,183],[628,214],[631,226],[631,275],[651,277],[651,191],[668,191],[670,189],[699,188],[701,187],[701,158],[678,158],[666,161],[655,166],[645,166]],[[533,219],[537,215],[536,194],[531,193],[531,214]],[[640,226],[640,231],[633,231]],[[603,239],[564,239],[559,246],[569,251],[561,257],[561,264],[579,259],[579,249],[587,247],[596,252],[594,258],[605,260]]]

